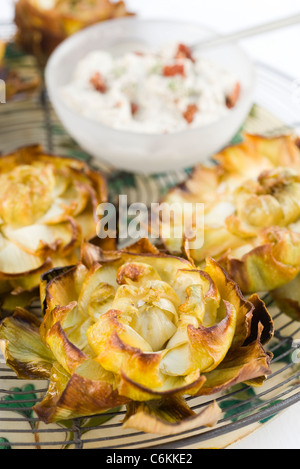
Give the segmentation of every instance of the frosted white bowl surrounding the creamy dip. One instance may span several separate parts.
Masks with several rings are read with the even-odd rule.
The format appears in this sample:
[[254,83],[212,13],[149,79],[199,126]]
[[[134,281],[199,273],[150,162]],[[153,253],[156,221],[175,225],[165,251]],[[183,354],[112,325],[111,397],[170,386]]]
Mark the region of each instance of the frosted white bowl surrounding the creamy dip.
[[230,44],[203,51],[240,81],[237,105],[213,124],[170,134],[140,134],[116,130],[77,114],[62,99],[77,63],[91,51],[118,53],[170,42],[194,44],[211,37],[210,29],[189,23],[125,18],[91,26],[65,40],[46,68],[46,85],[53,107],[69,134],[83,150],[117,169],[145,174],[177,170],[204,161],[227,145],[243,124],[253,103],[255,71],[251,60]]

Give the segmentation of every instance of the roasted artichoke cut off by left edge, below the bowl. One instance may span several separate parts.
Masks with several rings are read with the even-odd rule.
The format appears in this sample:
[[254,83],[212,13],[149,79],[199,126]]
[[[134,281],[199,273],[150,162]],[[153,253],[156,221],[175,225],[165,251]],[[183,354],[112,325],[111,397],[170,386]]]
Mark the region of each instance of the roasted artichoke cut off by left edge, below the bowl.
[[39,146],[0,157],[2,313],[39,296],[41,273],[78,262],[81,242],[96,236],[104,201],[105,180],[82,161]]

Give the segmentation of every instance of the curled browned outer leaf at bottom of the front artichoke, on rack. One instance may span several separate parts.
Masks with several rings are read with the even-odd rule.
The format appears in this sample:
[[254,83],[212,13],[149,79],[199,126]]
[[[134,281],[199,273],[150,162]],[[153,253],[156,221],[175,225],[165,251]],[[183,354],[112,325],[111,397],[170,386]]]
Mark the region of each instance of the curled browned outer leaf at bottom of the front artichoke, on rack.
[[159,435],[176,435],[202,426],[213,427],[220,415],[221,409],[215,401],[199,414],[193,412],[184,398],[178,396],[150,402],[131,401],[127,404],[123,428]]

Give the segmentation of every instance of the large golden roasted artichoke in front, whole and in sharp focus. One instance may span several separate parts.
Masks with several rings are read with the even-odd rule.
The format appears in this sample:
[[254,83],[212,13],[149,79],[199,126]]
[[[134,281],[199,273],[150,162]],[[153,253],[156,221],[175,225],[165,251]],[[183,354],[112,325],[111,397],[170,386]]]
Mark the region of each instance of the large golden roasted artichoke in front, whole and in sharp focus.
[[41,324],[18,309],[0,342],[20,378],[50,380],[35,406],[47,423],[127,404],[126,427],[213,425],[217,404],[194,415],[183,395],[261,385],[270,373],[264,303],[246,301],[211,258],[197,270],[147,240],[110,252],[84,243],[81,263],[42,276],[41,302]]

